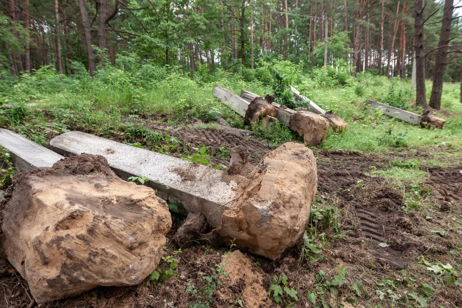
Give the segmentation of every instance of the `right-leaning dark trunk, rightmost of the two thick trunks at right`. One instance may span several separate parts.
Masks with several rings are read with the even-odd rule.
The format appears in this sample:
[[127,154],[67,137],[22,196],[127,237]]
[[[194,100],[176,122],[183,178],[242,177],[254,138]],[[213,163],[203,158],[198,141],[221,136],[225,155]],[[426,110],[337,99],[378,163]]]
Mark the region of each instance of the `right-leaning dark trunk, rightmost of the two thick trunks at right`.
[[441,94],[443,92],[444,70],[446,68],[446,56],[448,53],[449,36],[451,35],[451,22],[454,0],[444,1],[443,22],[439,34],[438,50],[435,56],[432,95],[430,107],[441,108]]

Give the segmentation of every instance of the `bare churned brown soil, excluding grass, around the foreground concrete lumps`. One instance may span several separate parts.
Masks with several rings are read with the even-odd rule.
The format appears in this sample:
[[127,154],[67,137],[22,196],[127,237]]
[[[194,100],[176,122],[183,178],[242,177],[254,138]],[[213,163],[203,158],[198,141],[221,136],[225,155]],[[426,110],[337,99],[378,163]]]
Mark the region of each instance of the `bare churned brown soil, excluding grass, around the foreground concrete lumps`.
[[[150,128],[168,132],[181,142],[194,146],[206,145],[219,148],[225,145],[232,148],[238,145],[251,154],[251,161],[248,162],[251,166],[254,166],[266,152],[270,151],[250,132],[241,130],[228,128],[220,130],[172,129],[167,125],[157,123],[151,123]],[[316,263],[303,258],[302,240],[299,240],[277,261],[270,261],[248,253],[242,253],[242,256],[236,255],[238,259],[250,260],[249,263],[253,265],[255,273],[252,273],[250,269],[246,271],[249,271],[248,275],[252,276],[251,281],[256,282],[254,286],[251,282],[251,287],[260,290],[257,294],[261,294],[261,301],[266,302],[261,286],[268,290],[274,275],[285,274],[288,281],[294,282],[299,290],[306,291],[316,286],[315,273],[320,270],[326,273],[336,273],[338,268],[345,266],[349,277],[361,279],[365,286],[374,287],[377,279],[394,277],[397,270],[404,269],[408,272],[421,270],[414,265],[419,255],[424,254],[427,258],[436,258],[442,263],[451,261],[447,259],[447,253],[457,248],[456,243],[461,241],[460,234],[449,232],[447,236],[441,237],[430,230],[448,229],[452,223],[448,211],[461,214],[462,166],[451,162],[452,167],[448,168],[422,167],[429,172],[428,179],[423,186],[430,187],[428,198],[434,204],[434,208],[428,213],[432,218],[425,219],[421,212],[405,212],[402,193],[393,188],[388,180],[370,174],[372,166],[377,169],[386,169],[390,161],[388,157],[408,159],[406,155],[398,152],[387,156],[348,151],[315,152],[318,165],[318,193],[316,195],[318,208],[323,202],[334,204],[337,207],[342,217],[341,232],[345,236],[334,241],[332,246],[325,251],[325,258]],[[414,152],[409,157],[413,159],[425,157],[425,155],[426,153]],[[0,219],[4,204],[5,201],[0,204]],[[166,246],[171,251],[180,248],[173,241],[176,226],[180,224],[177,219],[173,217],[176,223],[173,223],[174,226],[167,235]],[[319,226],[311,227],[324,232]],[[383,243],[387,246],[379,246]],[[223,262],[222,255],[229,250],[229,247],[191,246],[183,248],[174,256],[178,259],[178,267],[175,269],[176,277],[163,281],[161,284],[151,283],[145,279],[141,284],[132,287],[98,287],[77,297],[63,299],[41,307],[188,307],[207,297],[205,290],[207,286],[214,283],[210,282],[210,278],[215,282],[216,279],[220,279],[216,265]],[[248,264],[244,259],[239,262]],[[4,260],[0,260],[0,275],[0,285],[4,293],[3,297],[0,296],[0,306],[8,301],[10,307],[27,307],[31,299],[26,281],[16,275],[11,265]],[[232,275],[237,275],[235,276],[237,278],[234,280],[222,278],[220,280],[223,280],[223,284],[216,285],[215,292],[209,299],[215,307],[239,307],[236,294],[244,294],[249,286],[238,274]],[[191,291],[191,286],[194,286],[196,293]],[[370,288],[368,294],[368,305],[383,305],[383,302],[375,296],[374,288]],[[300,301],[294,307],[311,307],[305,294],[299,294],[299,297]],[[360,301],[362,300],[365,298],[363,297]],[[461,291],[456,287],[441,290],[431,303],[432,307],[461,307],[461,305]],[[278,306],[273,302],[270,307]]]

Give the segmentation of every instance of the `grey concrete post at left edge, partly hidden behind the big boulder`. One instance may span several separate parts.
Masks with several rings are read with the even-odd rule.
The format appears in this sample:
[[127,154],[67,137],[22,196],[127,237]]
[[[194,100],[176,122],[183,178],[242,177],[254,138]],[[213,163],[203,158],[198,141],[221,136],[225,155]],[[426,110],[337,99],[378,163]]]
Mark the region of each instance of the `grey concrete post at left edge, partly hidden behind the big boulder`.
[[38,167],[51,167],[63,156],[30,141],[11,130],[0,128],[0,146],[8,150],[18,171],[29,171]]

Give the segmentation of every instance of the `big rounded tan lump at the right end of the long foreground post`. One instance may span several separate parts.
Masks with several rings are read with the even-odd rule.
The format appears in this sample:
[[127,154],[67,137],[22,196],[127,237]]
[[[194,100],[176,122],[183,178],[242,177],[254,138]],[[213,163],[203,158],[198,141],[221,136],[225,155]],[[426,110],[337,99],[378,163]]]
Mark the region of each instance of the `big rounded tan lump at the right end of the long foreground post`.
[[266,154],[237,188],[237,199],[215,229],[225,241],[272,260],[293,246],[310,218],[318,188],[316,158],[302,144]]

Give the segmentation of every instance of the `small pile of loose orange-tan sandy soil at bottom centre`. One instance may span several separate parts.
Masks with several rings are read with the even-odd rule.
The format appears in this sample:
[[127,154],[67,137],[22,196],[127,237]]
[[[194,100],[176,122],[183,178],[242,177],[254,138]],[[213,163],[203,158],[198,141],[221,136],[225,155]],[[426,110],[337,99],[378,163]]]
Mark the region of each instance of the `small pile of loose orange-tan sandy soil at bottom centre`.
[[254,270],[252,262],[239,250],[231,252],[222,257],[221,266],[227,275],[220,276],[220,280],[225,286],[235,289],[241,288],[239,294],[244,307],[263,308],[269,307],[271,300],[263,287],[262,275]]

